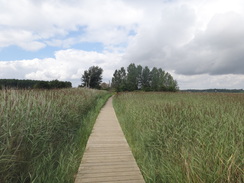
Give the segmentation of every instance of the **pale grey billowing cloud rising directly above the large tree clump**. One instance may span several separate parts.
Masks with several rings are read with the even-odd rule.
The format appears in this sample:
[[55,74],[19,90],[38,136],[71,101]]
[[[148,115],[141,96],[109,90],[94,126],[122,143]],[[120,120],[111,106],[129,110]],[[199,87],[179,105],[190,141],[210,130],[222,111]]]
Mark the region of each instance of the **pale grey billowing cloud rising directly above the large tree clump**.
[[124,58],[148,66],[171,65],[174,49],[192,38],[195,18],[194,10],[186,5],[162,8],[160,21],[138,31]]

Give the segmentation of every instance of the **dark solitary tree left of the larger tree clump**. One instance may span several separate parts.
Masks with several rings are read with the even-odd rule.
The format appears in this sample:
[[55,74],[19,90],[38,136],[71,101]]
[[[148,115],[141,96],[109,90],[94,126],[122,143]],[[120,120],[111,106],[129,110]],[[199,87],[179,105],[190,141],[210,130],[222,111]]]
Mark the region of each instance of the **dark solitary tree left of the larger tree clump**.
[[100,84],[102,82],[103,69],[98,66],[92,66],[89,70],[85,70],[82,75],[82,84],[88,88],[100,89]]

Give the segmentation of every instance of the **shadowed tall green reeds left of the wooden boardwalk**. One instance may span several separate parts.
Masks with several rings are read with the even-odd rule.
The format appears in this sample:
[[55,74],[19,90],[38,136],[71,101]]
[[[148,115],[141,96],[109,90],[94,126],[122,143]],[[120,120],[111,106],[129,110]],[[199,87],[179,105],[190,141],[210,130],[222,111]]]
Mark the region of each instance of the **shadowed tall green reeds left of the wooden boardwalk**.
[[0,91],[0,182],[73,182],[109,96],[86,89]]

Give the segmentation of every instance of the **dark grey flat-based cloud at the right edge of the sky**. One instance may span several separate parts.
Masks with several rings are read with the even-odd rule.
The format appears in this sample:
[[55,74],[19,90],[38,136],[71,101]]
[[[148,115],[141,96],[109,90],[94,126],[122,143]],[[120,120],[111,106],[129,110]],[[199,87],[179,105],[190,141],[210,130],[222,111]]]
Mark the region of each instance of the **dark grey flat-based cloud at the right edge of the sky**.
[[[244,74],[244,17],[235,13],[215,16],[207,29],[176,51],[180,74]],[[186,66],[184,66],[184,65]]]

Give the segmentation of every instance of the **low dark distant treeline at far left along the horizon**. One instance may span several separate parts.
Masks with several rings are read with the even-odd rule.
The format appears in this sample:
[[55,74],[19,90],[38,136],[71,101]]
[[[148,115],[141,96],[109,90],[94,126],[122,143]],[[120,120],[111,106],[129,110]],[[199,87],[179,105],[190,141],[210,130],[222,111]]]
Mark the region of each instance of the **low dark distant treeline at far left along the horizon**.
[[19,80],[19,79],[0,79],[0,89],[57,89],[71,88],[72,83],[68,81],[38,81],[38,80]]

